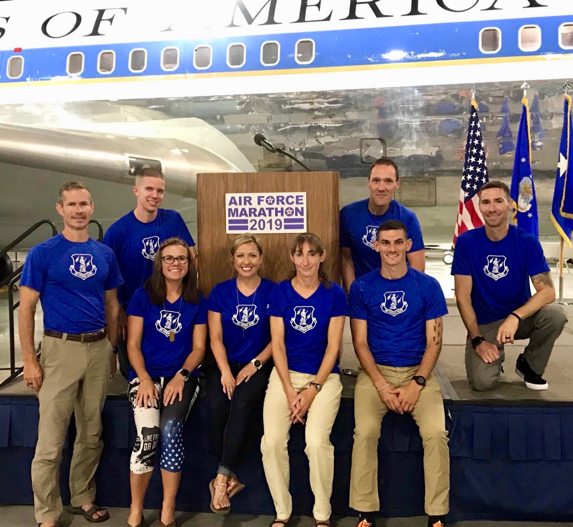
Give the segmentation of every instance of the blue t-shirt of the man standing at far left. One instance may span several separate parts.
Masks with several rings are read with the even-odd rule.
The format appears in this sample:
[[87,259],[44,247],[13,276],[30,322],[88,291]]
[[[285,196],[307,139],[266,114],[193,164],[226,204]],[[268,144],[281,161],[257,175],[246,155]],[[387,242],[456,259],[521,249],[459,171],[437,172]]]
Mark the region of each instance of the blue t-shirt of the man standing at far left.
[[20,285],[40,293],[44,329],[93,333],[104,328],[104,291],[123,284],[113,251],[89,238],[70,242],[58,234],[30,249]]

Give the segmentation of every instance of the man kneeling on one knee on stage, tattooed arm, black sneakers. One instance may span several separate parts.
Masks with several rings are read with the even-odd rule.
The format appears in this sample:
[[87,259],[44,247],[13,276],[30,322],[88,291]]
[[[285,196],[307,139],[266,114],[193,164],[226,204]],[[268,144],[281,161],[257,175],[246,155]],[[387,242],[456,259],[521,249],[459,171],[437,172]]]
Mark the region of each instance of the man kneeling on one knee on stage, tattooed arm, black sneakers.
[[[504,344],[521,339],[529,339],[529,344],[517,357],[515,372],[527,388],[547,390],[541,375],[567,322],[563,308],[552,305],[555,287],[541,244],[509,225],[511,210],[508,186],[486,183],[480,192],[485,225],[462,234],[454,252],[456,301],[468,329],[466,373],[478,391],[496,386]],[[528,278],[536,290],[533,296]]]

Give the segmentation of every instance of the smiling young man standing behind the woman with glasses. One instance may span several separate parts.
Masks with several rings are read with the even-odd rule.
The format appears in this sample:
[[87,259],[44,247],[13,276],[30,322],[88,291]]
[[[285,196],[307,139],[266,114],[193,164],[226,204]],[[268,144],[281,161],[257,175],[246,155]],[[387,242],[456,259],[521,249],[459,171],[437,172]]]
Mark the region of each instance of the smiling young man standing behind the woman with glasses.
[[120,336],[118,340],[119,368],[127,378],[127,315],[131,297],[153,272],[153,262],[159,246],[167,238],[181,238],[191,247],[197,268],[195,242],[181,215],[175,210],[160,209],[165,195],[165,177],[155,168],[143,168],[135,176],[135,210],[119,218],[105,232],[104,243],[111,247],[119,263],[124,284],[117,296],[121,304]]

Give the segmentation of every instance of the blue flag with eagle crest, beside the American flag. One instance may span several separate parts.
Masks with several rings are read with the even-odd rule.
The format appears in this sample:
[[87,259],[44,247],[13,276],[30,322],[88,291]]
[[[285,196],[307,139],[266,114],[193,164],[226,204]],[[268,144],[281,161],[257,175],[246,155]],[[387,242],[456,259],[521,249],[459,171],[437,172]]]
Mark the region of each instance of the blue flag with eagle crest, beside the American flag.
[[511,178],[511,199],[513,201],[513,223],[539,238],[537,221],[537,199],[531,171],[531,133],[529,129],[529,104],[521,101],[523,111],[517,132],[515,162]]

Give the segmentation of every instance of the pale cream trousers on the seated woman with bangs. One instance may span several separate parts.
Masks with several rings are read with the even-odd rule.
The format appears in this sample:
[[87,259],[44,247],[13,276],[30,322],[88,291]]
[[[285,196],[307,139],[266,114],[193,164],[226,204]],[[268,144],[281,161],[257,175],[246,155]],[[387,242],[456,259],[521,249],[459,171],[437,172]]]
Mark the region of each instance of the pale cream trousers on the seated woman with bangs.
[[[291,371],[291,383],[297,392],[308,388],[315,375]],[[328,520],[331,515],[330,497],[334,477],[334,447],[330,432],[340,407],[342,383],[340,375],[331,373],[316,395],[307,413],[304,453],[308,457],[312,493],[315,506],[312,509],[316,520]],[[289,457],[286,450],[291,429],[291,410],[276,368],[270,373],[263,407],[265,435],[261,440],[262,464],[266,482],[273,497],[274,509],[279,520],[291,517],[292,497],[289,493]]]

